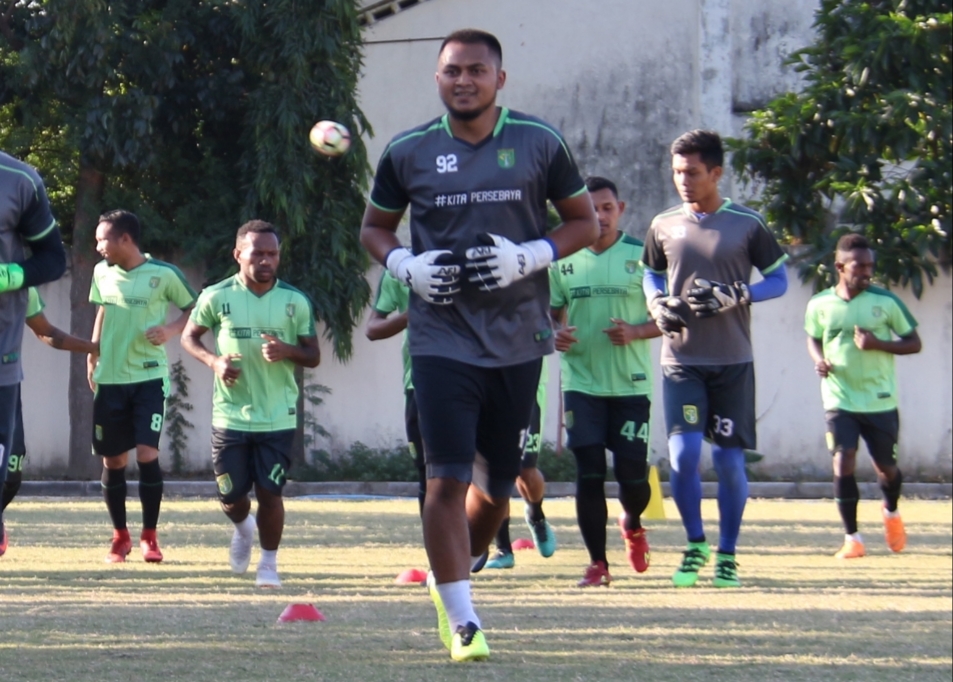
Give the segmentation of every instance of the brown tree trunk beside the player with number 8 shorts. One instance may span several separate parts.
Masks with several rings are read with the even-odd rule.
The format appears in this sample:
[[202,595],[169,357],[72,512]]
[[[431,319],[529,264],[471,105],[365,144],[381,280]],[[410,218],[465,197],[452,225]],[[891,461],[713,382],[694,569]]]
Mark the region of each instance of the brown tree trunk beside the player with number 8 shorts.
[[[88,161],[80,162],[76,186],[76,214],[70,280],[70,333],[84,339],[93,333],[96,308],[89,302],[89,283],[96,265],[96,224],[100,214],[106,176]],[[69,373],[69,468],[75,479],[99,478],[102,465],[91,453],[93,394],[86,380],[86,356],[70,353]]]

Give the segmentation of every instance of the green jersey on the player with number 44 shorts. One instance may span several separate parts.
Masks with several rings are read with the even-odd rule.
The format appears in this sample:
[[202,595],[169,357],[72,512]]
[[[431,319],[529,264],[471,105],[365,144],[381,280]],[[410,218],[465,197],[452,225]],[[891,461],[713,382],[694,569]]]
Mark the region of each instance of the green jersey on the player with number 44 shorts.
[[549,270],[550,303],[567,308],[567,324],[579,343],[562,353],[562,389],[611,397],[652,394],[649,342],[613,346],[603,332],[610,318],[629,324],[648,320],[642,291],[642,242],[621,235],[602,253],[582,249]]

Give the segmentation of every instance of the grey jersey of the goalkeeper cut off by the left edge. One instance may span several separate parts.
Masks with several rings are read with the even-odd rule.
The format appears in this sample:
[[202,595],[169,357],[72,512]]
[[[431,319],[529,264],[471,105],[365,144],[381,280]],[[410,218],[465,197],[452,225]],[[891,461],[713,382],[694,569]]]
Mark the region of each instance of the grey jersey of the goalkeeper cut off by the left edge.
[[[0,152],[0,263],[22,263],[24,244],[56,229],[39,174]],[[0,386],[23,380],[20,345],[26,319],[27,290],[0,294]]]

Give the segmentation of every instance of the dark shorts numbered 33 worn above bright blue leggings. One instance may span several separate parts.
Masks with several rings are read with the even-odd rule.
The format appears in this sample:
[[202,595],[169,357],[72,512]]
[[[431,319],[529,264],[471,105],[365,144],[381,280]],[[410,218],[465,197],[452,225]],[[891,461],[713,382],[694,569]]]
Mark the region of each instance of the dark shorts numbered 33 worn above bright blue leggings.
[[719,447],[757,447],[754,363],[662,365],[662,402],[669,435],[701,431]]

